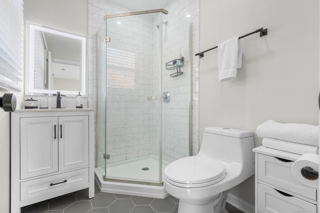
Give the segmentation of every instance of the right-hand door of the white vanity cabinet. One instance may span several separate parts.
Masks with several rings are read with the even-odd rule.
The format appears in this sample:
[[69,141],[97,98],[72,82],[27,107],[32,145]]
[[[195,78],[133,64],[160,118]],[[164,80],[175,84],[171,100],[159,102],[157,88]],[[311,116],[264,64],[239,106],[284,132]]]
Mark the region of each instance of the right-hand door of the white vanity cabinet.
[[59,171],[88,166],[88,116],[62,116],[59,122]]

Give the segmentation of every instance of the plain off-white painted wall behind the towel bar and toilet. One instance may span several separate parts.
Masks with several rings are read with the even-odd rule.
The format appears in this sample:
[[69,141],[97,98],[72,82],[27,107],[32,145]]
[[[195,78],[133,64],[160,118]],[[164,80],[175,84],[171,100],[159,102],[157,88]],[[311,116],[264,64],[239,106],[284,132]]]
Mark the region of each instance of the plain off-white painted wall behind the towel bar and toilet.
[[[205,127],[225,126],[253,131],[260,146],[255,130],[268,119],[318,124],[318,15],[318,0],[200,0],[200,50],[268,28],[241,39],[235,80],[218,82],[217,49],[200,59],[200,139]],[[254,205],[254,179],[230,193]]]

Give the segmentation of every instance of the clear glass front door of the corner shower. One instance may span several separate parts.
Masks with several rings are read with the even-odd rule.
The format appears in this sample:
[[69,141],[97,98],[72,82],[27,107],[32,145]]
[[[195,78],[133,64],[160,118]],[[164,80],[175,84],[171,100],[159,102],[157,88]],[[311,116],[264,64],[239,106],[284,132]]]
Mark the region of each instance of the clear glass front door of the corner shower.
[[106,180],[162,182],[161,15],[106,19]]

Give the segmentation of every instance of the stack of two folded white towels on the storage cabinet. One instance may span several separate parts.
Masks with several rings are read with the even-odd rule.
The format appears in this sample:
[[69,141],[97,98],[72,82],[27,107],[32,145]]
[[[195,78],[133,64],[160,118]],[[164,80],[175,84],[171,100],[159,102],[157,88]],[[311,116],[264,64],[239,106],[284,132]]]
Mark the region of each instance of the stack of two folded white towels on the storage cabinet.
[[256,128],[264,147],[295,154],[318,154],[319,126],[282,124],[268,120]]

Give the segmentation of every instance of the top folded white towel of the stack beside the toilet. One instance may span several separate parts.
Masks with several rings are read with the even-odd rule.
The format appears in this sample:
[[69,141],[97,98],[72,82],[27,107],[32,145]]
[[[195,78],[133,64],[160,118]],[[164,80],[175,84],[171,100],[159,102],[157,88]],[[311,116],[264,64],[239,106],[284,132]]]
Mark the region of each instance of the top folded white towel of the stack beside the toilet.
[[282,141],[318,146],[319,126],[309,124],[282,124],[268,120],[256,128],[260,138],[275,138]]

